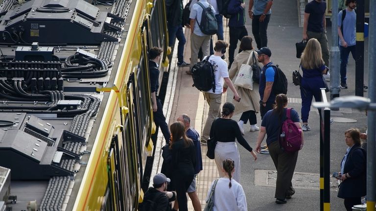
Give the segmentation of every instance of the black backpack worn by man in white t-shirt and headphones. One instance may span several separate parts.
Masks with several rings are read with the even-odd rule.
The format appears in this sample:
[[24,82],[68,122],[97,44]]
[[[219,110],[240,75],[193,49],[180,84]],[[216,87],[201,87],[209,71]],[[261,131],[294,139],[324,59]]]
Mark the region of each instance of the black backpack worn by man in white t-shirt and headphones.
[[209,61],[210,56],[204,60],[193,65],[192,70],[192,87],[196,87],[198,90],[207,92],[213,90],[215,92],[215,76],[214,68]]

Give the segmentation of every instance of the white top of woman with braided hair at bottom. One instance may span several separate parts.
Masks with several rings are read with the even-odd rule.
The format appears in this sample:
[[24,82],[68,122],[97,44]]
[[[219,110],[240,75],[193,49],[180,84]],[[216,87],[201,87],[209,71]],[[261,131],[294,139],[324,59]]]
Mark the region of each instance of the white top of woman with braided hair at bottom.
[[[213,202],[213,211],[247,211],[247,200],[241,185],[234,179],[231,180],[231,188],[229,187],[229,178],[220,178],[215,186]],[[213,186],[214,181],[211,183]],[[208,200],[211,192],[208,191]]]

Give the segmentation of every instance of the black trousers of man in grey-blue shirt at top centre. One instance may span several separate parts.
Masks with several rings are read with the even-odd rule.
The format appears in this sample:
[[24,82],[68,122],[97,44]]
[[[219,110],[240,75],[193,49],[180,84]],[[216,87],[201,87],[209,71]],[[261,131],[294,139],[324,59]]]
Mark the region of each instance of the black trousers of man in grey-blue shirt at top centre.
[[267,47],[268,36],[266,30],[270,21],[270,14],[266,15],[263,22],[260,22],[261,15],[254,15],[252,19],[252,34],[255,37],[257,48]]

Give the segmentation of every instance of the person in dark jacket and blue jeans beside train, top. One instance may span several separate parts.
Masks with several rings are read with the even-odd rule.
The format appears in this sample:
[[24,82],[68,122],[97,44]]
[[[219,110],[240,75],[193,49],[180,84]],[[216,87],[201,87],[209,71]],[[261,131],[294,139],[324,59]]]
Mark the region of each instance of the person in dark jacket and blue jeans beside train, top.
[[167,25],[168,25],[168,46],[179,40],[178,44],[178,67],[189,66],[183,59],[184,45],[186,38],[183,32],[183,0],[166,0]]

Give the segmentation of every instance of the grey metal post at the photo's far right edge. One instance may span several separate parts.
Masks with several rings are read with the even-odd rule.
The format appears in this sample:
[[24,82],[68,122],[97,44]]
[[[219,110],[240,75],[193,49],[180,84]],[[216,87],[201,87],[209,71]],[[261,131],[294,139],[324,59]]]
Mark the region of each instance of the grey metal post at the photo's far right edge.
[[[376,39],[376,5],[375,0],[370,0],[370,23],[368,43],[368,97],[371,103],[376,102],[376,63],[375,63],[375,39]],[[376,204],[376,111],[368,111],[368,134],[367,134],[367,211],[375,211]]]

